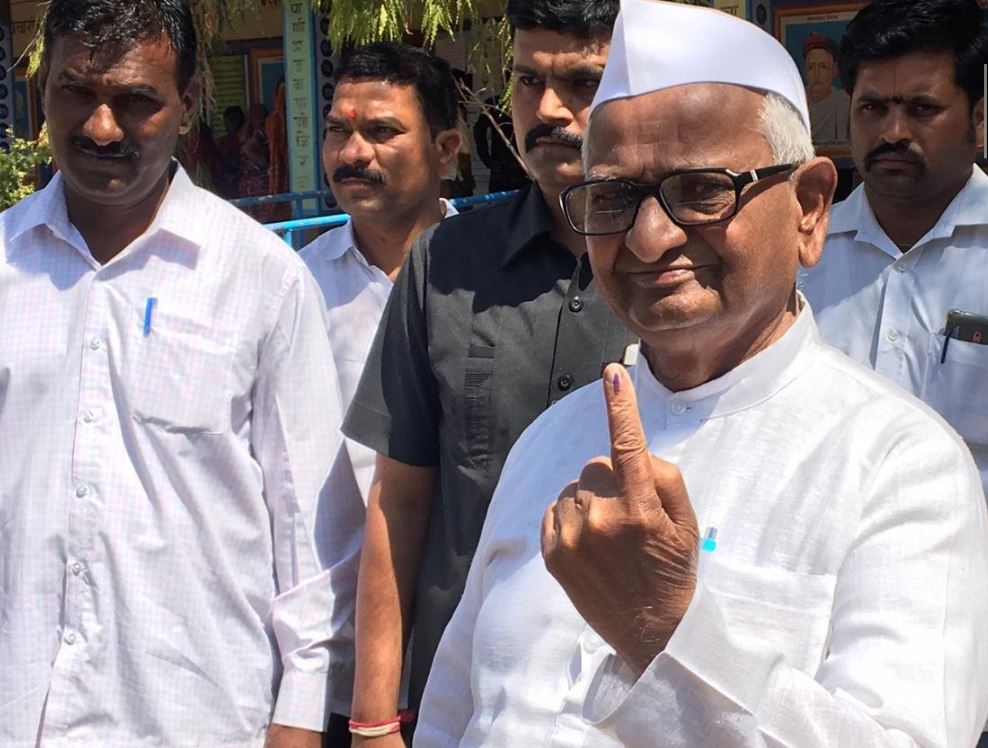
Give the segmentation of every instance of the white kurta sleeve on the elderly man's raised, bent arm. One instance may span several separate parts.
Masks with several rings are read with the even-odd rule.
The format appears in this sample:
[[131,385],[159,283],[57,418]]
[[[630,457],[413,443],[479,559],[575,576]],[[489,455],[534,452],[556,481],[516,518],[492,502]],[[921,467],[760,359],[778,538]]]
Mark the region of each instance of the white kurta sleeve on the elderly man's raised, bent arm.
[[974,745],[988,714],[988,521],[970,455],[929,432],[871,470],[818,668],[732,629],[731,580],[703,582],[728,568],[711,557],[665,651],[637,681],[602,667],[588,718],[626,746]]

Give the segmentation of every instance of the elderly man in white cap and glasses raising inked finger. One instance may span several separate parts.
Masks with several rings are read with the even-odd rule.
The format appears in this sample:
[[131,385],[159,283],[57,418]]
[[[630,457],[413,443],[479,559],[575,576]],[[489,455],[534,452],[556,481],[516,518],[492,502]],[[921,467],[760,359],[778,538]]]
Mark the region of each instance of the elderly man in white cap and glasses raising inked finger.
[[623,4],[564,203],[641,361],[515,445],[416,745],[973,744],[977,470],[796,292],[835,183],[808,121],[755,27]]

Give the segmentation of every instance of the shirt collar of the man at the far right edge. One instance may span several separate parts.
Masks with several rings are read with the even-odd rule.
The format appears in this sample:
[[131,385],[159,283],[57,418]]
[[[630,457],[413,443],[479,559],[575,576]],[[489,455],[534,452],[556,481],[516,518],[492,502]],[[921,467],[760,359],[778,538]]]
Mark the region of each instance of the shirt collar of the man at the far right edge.
[[[967,184],[950,201],[933,228],[916,242],[916,246],[933,239],[949,238],[958,226],[985,225],[988,223],[986,205],[988,205],[988,175],[985,175],[980,168],[975,166]],[[870,242],[878,247],[895,249],[892,240],[889,239],[888,234],[885,233],[875,218],[875,213],[865,194],[864,184],[858,185],[847,200],[835,205],[830,214],[828,236],[851,232],[854,233],[853,238],[857,241]],[[898,257],[899,254],[896,249],[895,256]]]

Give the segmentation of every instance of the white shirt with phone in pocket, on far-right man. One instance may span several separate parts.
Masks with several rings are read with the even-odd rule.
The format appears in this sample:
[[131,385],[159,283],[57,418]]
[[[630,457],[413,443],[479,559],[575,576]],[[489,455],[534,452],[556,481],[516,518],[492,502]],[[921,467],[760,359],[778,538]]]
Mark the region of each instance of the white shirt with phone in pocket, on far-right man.
[[908,252],[878,225],[864,186],[834,206],[800,288],[823,339],[922,398],[964,437],[988,487],[988,345],[951,340],[947,312],[988,315],[988,176],[971,179]]

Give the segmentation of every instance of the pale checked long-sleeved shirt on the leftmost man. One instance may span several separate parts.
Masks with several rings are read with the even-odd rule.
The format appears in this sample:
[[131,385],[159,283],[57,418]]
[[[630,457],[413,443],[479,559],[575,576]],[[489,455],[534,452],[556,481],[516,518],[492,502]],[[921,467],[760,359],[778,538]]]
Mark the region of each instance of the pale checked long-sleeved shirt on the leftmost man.
[[310,274],[180,167],[105,265],[61,176],[0,214],[0,745],[322,729],[340,419]]

